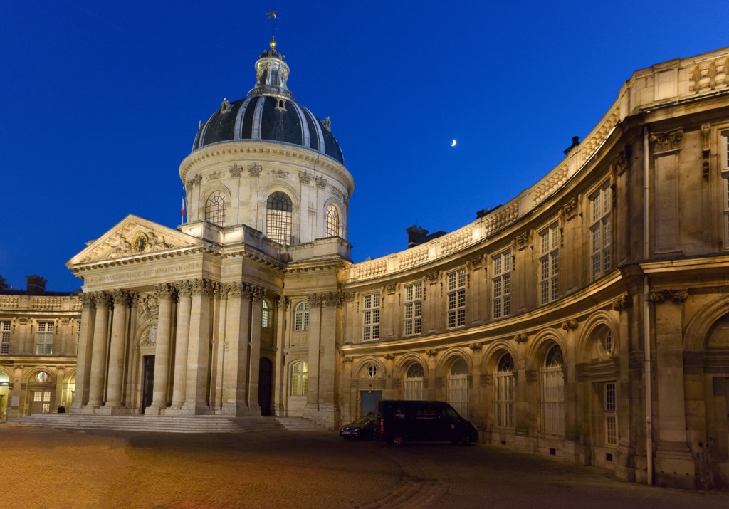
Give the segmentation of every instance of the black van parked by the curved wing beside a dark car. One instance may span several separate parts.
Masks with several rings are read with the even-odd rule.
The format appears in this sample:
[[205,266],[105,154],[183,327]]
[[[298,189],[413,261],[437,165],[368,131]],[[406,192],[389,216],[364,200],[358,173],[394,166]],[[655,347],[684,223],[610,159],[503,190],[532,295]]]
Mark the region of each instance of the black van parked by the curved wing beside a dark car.
[[382,400],[375,411],[375,438],[394,446],[410,440],[469,445],[478,432],[445,401]]

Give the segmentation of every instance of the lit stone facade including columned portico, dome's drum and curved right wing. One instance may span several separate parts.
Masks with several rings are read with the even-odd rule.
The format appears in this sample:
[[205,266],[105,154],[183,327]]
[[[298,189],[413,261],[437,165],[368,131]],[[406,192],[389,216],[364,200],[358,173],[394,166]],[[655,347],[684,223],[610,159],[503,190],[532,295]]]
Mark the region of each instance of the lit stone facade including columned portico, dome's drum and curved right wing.
[[129,216],[69,262],[85,281],[72,411],[335,427],[380,399],[447,400],[487,443],[725,486],[728,58],[636,71],[532,187],[363,263],[340,162],[262,139],[196,149],[190,222]]

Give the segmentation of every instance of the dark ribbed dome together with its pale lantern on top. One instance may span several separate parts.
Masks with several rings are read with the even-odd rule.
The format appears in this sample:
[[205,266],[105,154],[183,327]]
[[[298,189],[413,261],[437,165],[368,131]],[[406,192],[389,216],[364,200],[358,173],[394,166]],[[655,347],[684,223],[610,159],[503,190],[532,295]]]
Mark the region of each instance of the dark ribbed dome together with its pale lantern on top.
[[313,150],[344,165],[342,150],[327,118],[319,120],[295,102],[286,87],[289,66],[270,42],[256,62],[256,85],[246,98],[228,102],[200,124],[192,150],[224,141],[273,141]]

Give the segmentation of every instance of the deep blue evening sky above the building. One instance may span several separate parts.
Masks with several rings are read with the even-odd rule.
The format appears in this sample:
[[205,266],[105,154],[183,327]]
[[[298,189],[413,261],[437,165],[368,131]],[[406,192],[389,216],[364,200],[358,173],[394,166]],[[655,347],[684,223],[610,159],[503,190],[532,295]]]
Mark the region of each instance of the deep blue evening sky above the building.
[[[0,274],[65,263],[127,214],[180,222],[198,122],[246,95],[268,47],[354,176],[354,261],[451,231],[563,157],[633,71],[729,46],[724,1],[0,3]],[[457,139],[456,147],[451,140]]]

